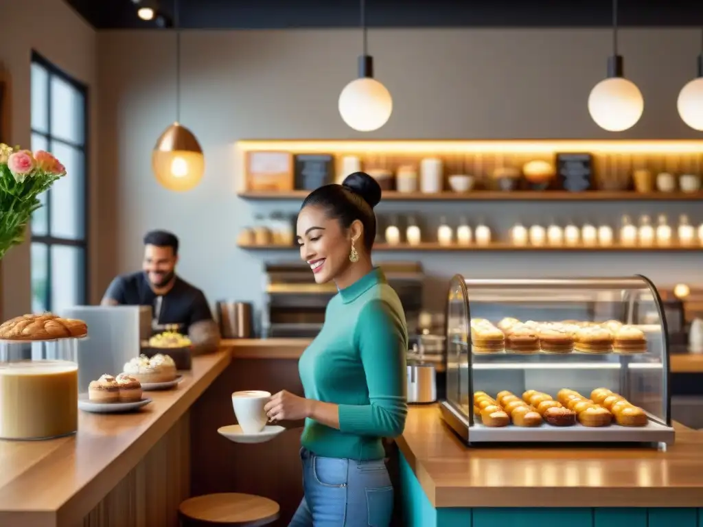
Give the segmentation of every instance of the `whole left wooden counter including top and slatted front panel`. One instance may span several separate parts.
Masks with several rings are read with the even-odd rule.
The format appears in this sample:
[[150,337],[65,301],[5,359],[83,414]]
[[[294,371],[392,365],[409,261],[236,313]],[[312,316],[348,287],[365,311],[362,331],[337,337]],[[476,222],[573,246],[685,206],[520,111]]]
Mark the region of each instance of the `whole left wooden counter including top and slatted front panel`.
[[130,414],[79,412],[74,436],[0,441],[0,526],[177,525],[190,490],[188,411],[231,362],[193,358],[178,389]]

